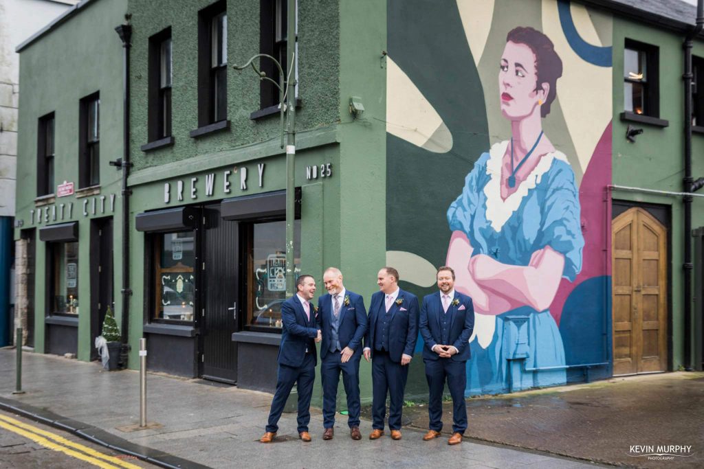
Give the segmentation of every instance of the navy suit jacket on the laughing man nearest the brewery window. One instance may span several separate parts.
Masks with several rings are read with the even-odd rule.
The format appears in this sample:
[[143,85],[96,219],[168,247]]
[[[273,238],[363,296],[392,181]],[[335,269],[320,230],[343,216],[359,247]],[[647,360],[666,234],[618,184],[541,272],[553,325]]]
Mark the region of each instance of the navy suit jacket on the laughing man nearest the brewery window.
[[306,347],[313,354],[315,364],[318,356],[315,351],[315,338],[318,337],[318,328],[315,325],[315,312],[310,304],[310,320],[306,319],[303,304],[294,295],[281,304],[281,320],[284,327],[281,333],[279,346],[279,364],[298,368],[306,358]]

